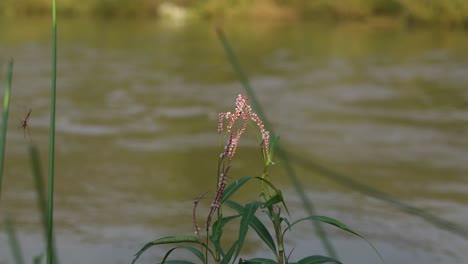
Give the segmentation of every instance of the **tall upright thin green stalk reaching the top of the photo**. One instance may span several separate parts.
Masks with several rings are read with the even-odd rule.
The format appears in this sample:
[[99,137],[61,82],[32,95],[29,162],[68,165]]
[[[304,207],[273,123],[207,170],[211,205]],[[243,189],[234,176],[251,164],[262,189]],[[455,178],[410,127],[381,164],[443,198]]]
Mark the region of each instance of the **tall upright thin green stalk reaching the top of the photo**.
[[54,161],[55,161],[55,98],[57,83],[57,14],[55,0],[52,0],[52,85],[50,100],[49,139],[49,199],[47,208],[47,263],[54,263],[53,216],[54,216]]

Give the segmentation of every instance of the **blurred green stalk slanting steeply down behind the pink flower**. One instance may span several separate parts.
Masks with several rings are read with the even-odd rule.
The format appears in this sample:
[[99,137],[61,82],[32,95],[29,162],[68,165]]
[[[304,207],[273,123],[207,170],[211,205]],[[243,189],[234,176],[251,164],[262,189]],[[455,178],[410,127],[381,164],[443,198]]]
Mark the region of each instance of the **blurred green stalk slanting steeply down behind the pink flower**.
[[[234,53],[231,45],[229,44],[228,39],[226,38],[226,36],[224,35],[224,32],[220,28],[217,28],[216,32],[217,32],[218,37],[219,37],[219,39],[220,39],[220,41],[221,41],[221,43],[222,43],[222,45],[224,47],[224,50],[225,50],[225,52],[226,52],[226,54],[228,56],[229,62],[231,63],[234,71],[236,72],[237,77],[239,78],[242,86],[244,87],[244,90],[247,92],[247,94],[249,96],[249,100],[251,100],[251,102],[252,102],[252,107],[255,109],[258,116],[265,123],[266,129],[269,130],[273,134],[272,126],[271,126],[270,122],[268,121],[268,119],[266,118],[266,116],[265,116],[265,114],[263,112],[263,109],[262,109],[260,103],[257,100],[255,92],[252,89],[252,87],[250,86],[247,75],[242,70],[242,67],[241,67],[241,65],[240,65],[240,63],[239,63],[239,61],[237,59],[237,56]],[[277,153],[278,153],[279,158],[283,161],[281,164],[285,168],[289,179],[291,180],[294,188],[296,189],[297,193],[299,194],[299,197],[301,198],[301,201],[302,201],[302,204],[304,205],[305,210],[310,215],[316,215],[315,206],[307,198],[307,195],[306,195],[306,193],[304,191],[304,188],[302,187],[301,182],[297,178],[296,172],[295,172],[294,168],[292,167],[292,165],[290,164],[289,159],[288,159],[288,157],[286,155],[286,152],[282,149],[280,144],[276,144],[276,149],[277,149]],[[320,237],[320,240],[321,240],[325,250],[327,251],[327,254],[330,257],[334,258],[334,259],[338,259],[336,250],[333,247],[333,244],[331,243],[331,241],[329,240],[329,238],[327,236],[327,233],[326,233],[325,229],[323,228],[322,224],[320,222],[318,222],[318,221],[313,221],[313,225],[315,226],[317,235]]]

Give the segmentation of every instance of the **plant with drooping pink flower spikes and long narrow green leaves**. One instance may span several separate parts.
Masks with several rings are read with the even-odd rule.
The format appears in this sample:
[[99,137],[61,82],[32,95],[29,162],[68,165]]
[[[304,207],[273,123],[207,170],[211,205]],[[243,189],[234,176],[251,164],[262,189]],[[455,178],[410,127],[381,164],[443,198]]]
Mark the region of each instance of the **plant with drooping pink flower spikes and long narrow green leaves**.
[[[339,222],[336,219],[325,217],[325,216],[309,216],[299,219],[295,222],[290,222],[288,218],[282,216],[283,210],[286,211],[289,216],[288,209],[281,190],[276,188],[270,181],[268,169],[274,165],[272,158],[274,156],[275,144],[278,137],[270,138],[270,134],[265,130],[265,126],[258,117],[252,111],[252,108],[247,103],[247,98],[243,95],[239,95],[236,99],[235,111],[222,112],[218,115],[218,133],[222,135],[224,130],[224,119],[229,120],[226,125],[224,138],[226,143],[223,151],[219,156],[218,160],[218,176],[217,176],[217,188],[214,198],[211,202],[208,216],[206,217],[204,229],[200,228],[197,221],[196,209],[206,194],[196,199],[193,207],[193,225],[195,227],[194,236],[170,236],[160,239],[156,239],[147,243],[143,246],[137,254],[132,263],[135,263],[137,259],[150,247],[155,245],[165,244],[180,244],[180,246],[174,247],[167,251],[163,257],[161,263],[193,263],[186,260],[167,260],[175,249],[185,249],[190,251],[198,258],[201,263],[207,264],[211,261],[214,263],[267,263],[267,264],[284,264],[293,263],[290,262],[289,255],[285,250],[283,243],[284,236],[294,225],[304,220],[314,220],[324,222],[333,226],[336,226],[349,233],[357,235],[363,238],[361,235],[353,231],[345,224]],[[242,120],[240,128],[235,128],[235,124],[238,120]],[[236,153],[236,149],[239,144],[239,140],[242,134],[246,131],[249,121],[252,121],[256,127],[258,127],[260,133],[260,146],[263,155],[264,169],[262,174],[257,177],[243,177],[237,179],[230,185],[227,185],[228,173],[231,168],[231,162]],[[235,201],[230,200],[231,196],[236,193],[241,187],[248,181],[256,179],[261,182],[260,185],[260,197],[261,201],[251,201],[245,205],[241,205]],[[228,206],[233,209],[236,213],[229,216],[224,216],[222,212],[223,206]],[[268,228],[260,221],[255,215],[258,209],[261,208],[267,214],[268,220],[271,222],[273,227],[272,233]],[[212,222],[213,216],[216,217],[216,221]],[[231,245],[224,245],[221,243],[221,237],[223,230],[227,224],[233,223],[232,220],[240,218],[239,221],[239,233],[234,243]],[[249,229],[252,228],[259,238],[265,243],[265,245],[271,250],[275,259],[268,258],[253,258],[253,259],[242,259],[239,257],[241,250],[244,246],[246,235]],[[273,238],[274,237],[274,238]],[[365,238],[363,238],[365,239]],[[367,241],[367,240],[366,240]],[[198,244],[199,247],[189,246],[187,244]],[[370,243],[369,243],[370,244]],[[372,244],[371,244],[372,246]],[[373,247],[373,246],[372,246]],[[374,247],[373,247],[374,248]],[[375,250],[375,248],[374,248]],[[376,251],[377,252],[377,251]],[[378,254],[378,252],[377,252]],[[379,255],[379,254],[378,254]],[[380,257],[380,255],[379,255]],[[380,257],[381,258],[381,257]],[[382,258],[381,258],[382,259]],[[383,262],[383,259],[382,259]],[[314,263],[341,263],[336,259],[325,257],[325,256],[307,256],[301,260],[294,262],[300,264],[314,264]]]

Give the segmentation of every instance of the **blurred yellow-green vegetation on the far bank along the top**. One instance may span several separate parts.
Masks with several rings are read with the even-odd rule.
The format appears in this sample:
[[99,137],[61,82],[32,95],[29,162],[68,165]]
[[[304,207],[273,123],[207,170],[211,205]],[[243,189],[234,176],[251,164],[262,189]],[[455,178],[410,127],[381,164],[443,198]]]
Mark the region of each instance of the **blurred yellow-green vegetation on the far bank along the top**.
[[[42,16],[48,0],[2,0],[0,16]],[[451,0],[62,0],[62,17],[170,17],[205,20],[397,20],[408,24],[468,26],[468,1]]]

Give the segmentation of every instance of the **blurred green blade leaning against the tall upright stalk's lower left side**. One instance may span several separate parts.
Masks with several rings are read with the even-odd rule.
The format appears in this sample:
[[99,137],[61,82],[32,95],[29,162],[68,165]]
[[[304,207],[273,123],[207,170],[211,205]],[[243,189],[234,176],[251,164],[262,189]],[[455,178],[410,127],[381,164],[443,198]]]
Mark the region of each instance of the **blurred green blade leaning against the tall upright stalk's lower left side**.
[[[31,158],[32,172],[34,176],[34,187],[36,188],[37,205],[39,207],[39,213],[41,215],[42,228],[44,230],[44,239],[47,244],[47,200],[46,192],[44,187],[44,177],[42,174],[41,159],[39,156],[39,150],[36,145],[31,144],[29,146],[29,157]],[[53,245],[55,246],[55,236],[52,236]],[[57,255],[55,254],[54,247],[54,263],[58,263]]]

